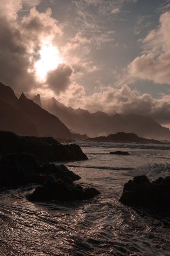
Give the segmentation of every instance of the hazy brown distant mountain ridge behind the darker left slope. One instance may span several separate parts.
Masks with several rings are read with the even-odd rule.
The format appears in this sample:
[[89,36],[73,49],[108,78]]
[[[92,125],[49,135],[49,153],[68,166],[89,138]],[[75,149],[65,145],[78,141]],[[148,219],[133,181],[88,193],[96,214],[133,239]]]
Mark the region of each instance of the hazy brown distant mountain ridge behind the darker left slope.
[[170,140],[170,130],[155,122],[152,118],[128,114],[113,116],[98,111],[90,113],[83,109],[73,109],[58,102],[54,97],[41,101],[44,109],[56,115],[67,127],[89,137],[107,136],[111,133],[134,132],[140,137]]

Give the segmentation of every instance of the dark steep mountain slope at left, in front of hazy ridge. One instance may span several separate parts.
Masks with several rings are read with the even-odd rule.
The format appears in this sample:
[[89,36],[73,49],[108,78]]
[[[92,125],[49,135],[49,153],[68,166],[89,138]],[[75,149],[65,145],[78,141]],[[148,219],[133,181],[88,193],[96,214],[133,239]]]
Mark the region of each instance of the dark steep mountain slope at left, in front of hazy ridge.
[[[40,100],[40,97],[37,98]],[[22,136],[74,138],[76,135],[72,134],[58,117],[27,99],[23,93],[17,99],[14,91],[2,83],[0,83],[0,120],[0,130],[12,131]]]

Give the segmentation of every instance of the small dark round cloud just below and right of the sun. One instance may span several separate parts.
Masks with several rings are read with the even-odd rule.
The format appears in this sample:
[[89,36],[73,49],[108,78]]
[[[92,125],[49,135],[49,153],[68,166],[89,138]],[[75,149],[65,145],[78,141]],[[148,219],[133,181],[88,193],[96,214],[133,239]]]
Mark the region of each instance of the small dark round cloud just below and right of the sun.
[[69,64],[61,63],[56,69],[47,73],[47,84],[56,94],[65,91],[71,83],[70,76],[73,68]]

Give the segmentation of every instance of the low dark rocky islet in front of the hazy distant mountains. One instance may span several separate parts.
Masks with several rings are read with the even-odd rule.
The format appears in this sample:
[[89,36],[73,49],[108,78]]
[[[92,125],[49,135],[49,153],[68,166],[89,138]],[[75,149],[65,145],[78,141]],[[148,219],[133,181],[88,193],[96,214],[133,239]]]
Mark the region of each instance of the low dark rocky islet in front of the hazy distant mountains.
[[115,143],[156,143],[160,144],[158,140],[150,140],[138,137],[135,133],[117,132],[116,134],[110,134],[107,137],[100,136],[96,138],[89,138],[89,141],[94,142],[115,142]]

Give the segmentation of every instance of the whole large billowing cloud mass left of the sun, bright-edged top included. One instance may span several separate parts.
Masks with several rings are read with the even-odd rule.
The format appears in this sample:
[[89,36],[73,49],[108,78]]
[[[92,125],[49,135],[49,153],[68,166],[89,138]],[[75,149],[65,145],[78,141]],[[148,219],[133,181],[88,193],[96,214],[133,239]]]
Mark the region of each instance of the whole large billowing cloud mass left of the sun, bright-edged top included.
[[15,92],[29,93],[33,88],[43,86],[36,80],[35,62],[44,43],[51,43],[62,34],[57,20],[51,17],[51,9],[40,13],[31,8],[22,19],[19,0],[0,2],[0,77],[1,82],[11,86]]

